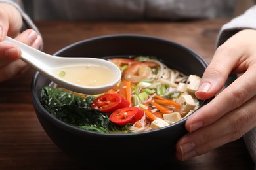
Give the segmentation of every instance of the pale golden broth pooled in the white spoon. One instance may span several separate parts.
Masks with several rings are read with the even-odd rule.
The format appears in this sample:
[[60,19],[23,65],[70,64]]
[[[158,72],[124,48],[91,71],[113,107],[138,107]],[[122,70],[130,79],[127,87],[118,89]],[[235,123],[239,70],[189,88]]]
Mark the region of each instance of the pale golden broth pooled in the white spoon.
[[54,69],[53,73],[64,80],[81,86],[104,86],[115,80],[115,72],[103,65],[75,65]]

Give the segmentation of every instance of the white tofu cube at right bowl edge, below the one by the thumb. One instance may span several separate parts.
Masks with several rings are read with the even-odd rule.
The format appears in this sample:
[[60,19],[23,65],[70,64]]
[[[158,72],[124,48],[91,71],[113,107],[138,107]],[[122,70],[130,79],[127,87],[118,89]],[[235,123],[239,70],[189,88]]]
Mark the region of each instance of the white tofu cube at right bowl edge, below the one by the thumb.
[[185,116],[190,110],[194,110],[196,107],[193,97],[189,94],[181,95],[177,102],[181,104],[182,116]]

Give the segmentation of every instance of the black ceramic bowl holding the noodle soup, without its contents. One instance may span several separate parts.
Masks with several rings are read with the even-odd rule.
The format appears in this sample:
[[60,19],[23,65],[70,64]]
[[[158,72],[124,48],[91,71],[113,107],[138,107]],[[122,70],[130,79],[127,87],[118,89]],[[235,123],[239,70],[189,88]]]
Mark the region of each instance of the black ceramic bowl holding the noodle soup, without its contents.
[[[102,58],[106,56],[156,56],[167,66],[187,75],[202,76],[207,62],[198,54],[175,42],[145,35],[108,35],[76,42],[56,52],[56,56]],[[51,80],[35,73],[32,81],[32,101],[39,122],[53,142],[73,158],[98,167],[119,165],[136,167],[134,163],[167,165],[175,160],[175,144],[187,133],[187,118],[161,129],[135,134],[104,134],[85,131],[54,118],[41,105],[41,89]],[[202,101],[200,107],[208,103]],[[120,168],[121,168],[120,167]]]

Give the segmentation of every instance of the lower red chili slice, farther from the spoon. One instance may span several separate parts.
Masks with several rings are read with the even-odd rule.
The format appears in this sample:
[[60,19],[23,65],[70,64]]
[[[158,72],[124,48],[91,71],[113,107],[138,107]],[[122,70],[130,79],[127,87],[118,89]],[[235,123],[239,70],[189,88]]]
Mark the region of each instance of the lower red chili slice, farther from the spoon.
[[143,110],[138,107],[125,107],[118,109],[110,115],[110,121],[118,125],[125,125],[128,123],[134,124],[144,115]]

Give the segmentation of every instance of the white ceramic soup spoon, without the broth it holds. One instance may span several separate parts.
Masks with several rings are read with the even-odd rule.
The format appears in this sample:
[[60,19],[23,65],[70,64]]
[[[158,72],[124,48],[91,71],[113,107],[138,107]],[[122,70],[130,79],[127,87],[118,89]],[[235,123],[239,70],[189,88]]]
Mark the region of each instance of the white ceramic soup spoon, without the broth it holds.
[[[18,46],[22,51],[21,59],[31,65],[34,69],[47,76],[50,80],[53,80],[56,84],[67,88],[68,90],[72,90],[74,92],[85,93],[85,94],[99,94],[104,93],[113,86],[115,86],[119,80],[121,79],[121,71],[120,69],[110,61],[106,61],[105,59],[99,58],[81,58],[81,57],[58,57],[52,56],[49,54],[45,54],[35,48],[32,48],[22,42],[16,41],[11,37],[5,37],[4,42],[14,44]],[[70,82],[65,80],[62,76],[54,73],[56,68],[65,69],[66,67],[75,67],[77,65],[98,65],[98,67],[107,67],[109,71],[114,72],[114,78],[112,78],[111,82],[107,82],[106,84],[100,86],[84,86],[81,84],[77,84],[74,82]],[[77,73],[83,74],[83,73]],[[106,76],[106,73],[102,73],[103,76]],[[112,74],[113,75],[113,74]]]

